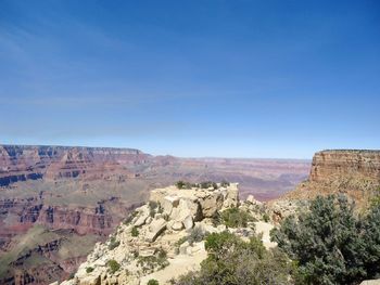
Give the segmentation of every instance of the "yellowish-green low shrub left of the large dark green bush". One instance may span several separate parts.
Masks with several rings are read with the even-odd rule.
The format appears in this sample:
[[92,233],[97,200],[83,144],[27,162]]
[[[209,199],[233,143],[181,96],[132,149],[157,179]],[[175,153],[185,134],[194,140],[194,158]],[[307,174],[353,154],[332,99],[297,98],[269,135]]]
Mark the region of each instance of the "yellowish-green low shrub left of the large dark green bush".
[[179,277],[178,285],[288,285],[291,264],[278,249],[266,250],[257,237],[249,243],[229,232],[206,237],[207,258],[200,272]]

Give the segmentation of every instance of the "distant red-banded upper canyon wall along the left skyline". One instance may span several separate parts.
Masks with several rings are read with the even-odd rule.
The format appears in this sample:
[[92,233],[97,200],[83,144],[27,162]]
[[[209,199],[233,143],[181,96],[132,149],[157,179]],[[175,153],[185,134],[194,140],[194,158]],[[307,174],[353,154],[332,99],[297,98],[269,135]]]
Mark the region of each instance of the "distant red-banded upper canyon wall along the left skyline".
[[37,179],[134,177],[128,166],[147,160],[138,150],[66,146],[0,146],[0,186]]

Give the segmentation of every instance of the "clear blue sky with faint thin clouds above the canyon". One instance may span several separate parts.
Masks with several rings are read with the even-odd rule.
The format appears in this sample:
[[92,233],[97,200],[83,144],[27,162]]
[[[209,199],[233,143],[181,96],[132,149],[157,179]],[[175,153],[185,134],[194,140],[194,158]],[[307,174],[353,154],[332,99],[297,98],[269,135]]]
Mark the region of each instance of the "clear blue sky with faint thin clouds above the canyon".
[[0,142],[380,148],[380,3],[0,0]]

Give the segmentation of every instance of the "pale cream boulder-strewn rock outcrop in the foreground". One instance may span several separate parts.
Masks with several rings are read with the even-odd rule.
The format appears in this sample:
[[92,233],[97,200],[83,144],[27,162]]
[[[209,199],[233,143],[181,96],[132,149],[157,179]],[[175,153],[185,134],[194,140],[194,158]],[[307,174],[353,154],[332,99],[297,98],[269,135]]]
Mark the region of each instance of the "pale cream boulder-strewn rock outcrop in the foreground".
[[197,238],[194,232],[204,235],[230,231],[249,238],[255,234],[255,228],[256,232],[263,233],[264,245],[274,247],[276,244],[269,241],[270,223],[252,221],[246,228],[232,229],[213,222],[216,213],[236,207],[261,219],[263,212],[257,210],[261,206],[252,196],[246,202],[240,202],[237,184],[154,190],[149,203],[137,208],[105,243],[98,243],[73,278],[60,284],[138,285],[150,280],[170,284],[170,280],[198,270],[206,258],[202,237],[191,239]]

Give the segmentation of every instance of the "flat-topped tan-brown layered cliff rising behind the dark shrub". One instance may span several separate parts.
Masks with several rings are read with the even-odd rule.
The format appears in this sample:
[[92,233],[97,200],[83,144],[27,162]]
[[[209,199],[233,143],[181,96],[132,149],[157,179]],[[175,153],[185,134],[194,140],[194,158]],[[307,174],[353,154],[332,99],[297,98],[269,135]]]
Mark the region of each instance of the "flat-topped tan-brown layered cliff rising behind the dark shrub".
[[380,151],[322,151],[313,158],[308,180],[286,195],[309,199],[317,195],[344,193],[360,207],[377,194],[380,185]]

